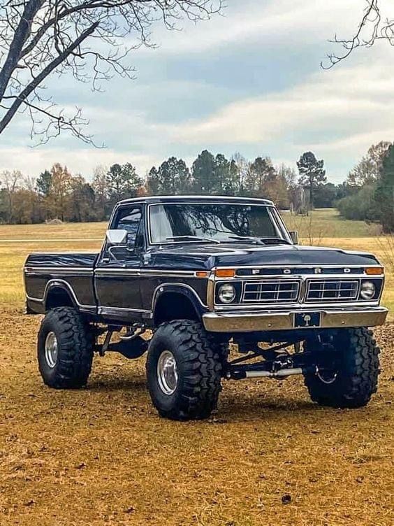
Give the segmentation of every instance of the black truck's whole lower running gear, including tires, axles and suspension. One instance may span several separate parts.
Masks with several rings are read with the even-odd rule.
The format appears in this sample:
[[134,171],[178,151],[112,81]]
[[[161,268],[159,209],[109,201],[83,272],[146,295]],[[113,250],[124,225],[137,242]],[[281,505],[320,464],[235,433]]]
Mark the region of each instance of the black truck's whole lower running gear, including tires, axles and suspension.
[[207,418],[217,408],[221,381],[283,380],[300,375],[312,401],[332,407],[364,406],[377,390],[379,347],[365,327],[210,334],[198,320],[163,322],[154,332],[95,325],[71,307],[45,315],[38,363],[52,388],[87,383],[94,353],[134,359],[147,352],[147,385],[159,414],[173,420]]

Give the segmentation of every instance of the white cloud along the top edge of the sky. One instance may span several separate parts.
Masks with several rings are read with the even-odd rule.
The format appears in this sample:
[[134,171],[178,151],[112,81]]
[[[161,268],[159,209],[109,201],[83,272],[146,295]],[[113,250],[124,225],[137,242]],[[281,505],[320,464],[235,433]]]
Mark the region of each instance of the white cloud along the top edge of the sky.
[[[182,31],[155,31],[153,40],[169,53],[206,52],[228,44],[263,41],[268,44],[331,38],[335,31],[352,31],[363,13],[360,0],[228,0],[223,16]],[[284,40],[285,39],[285,40]],[[149,52],[149,50],[147,50]]]

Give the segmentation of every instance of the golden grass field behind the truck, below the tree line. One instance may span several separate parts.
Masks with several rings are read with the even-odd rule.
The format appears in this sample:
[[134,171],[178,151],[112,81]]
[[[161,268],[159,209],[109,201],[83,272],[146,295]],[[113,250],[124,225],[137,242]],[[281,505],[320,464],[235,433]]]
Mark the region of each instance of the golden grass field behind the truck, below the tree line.
[[[283,218],[289,229],[298,230],[303,244],[365,250],[386,264],[384,304],[394,312],[394,253],[379,237],[377,225],[342,220],[335,210],[317,210],[309,217]],[[99,250],[106,222],[64,223],[62,225],[0,226],[0,304],[22,308],[24,291],[22,267],[27,255],[38,251]],[[394,319],[394,315],[391,314]]]

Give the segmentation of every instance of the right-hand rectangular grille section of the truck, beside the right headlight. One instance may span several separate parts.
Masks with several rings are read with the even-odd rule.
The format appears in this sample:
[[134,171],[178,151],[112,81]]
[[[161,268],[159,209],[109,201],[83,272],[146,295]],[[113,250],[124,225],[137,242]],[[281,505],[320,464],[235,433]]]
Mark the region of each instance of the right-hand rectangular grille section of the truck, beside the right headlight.
[[357,296],[356,280],[309,280],[306,301],[352,301]]

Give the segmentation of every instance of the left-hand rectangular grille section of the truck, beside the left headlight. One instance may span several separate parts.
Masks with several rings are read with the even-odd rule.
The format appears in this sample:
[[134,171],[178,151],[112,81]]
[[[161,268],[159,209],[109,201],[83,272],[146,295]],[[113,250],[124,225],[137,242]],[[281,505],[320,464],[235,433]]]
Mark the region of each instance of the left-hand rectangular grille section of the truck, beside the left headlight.
[[300,292],[299,281],[250,281],[245,283],[243,303],[296,303]]

